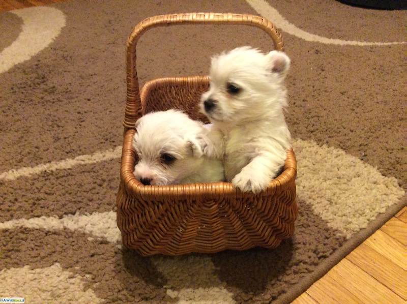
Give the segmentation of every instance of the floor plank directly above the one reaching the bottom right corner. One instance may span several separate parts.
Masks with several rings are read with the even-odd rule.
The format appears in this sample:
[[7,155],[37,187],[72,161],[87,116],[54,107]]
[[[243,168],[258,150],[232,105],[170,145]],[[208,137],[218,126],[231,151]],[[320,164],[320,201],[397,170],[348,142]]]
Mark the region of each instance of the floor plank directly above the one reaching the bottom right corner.
[[363,269],[374,279],[407,300],[407,271],[396,265],[366,244],[346,256],[359,268]]

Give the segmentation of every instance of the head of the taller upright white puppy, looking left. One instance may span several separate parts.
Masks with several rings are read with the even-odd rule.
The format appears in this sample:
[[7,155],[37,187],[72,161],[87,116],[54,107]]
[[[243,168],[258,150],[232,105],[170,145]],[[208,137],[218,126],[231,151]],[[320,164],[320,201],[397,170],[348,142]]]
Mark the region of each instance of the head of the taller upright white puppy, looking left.
[[283,52],[263,54],[250,47],[213,57],[210,87],[201,96],[201,111],[214,123],[232,123],[285,107],[283,80],[289,65]]

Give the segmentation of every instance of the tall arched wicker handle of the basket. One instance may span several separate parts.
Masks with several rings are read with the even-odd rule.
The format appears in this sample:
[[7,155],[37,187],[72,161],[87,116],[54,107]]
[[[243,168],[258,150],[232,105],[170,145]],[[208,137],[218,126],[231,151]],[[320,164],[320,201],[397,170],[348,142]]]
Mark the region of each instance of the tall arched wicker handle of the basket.
[[281,34],[277,31],[273,23],[264,17],[249,14],[232,13],[181,13],[154,16],[144,19],[138,23],[127,40],[126,70],[127,70],[127,102],[123,125],[127,129],[134,129],[136,120],[141,116],[142,105],[138,87],[137,67],[136,67],[136,45],[141,35],[148,29],[174,24],[193,23],[228,23],[245,24],[257,26],[265,31],[273,40],[276,50],[283,51],[284,44]]

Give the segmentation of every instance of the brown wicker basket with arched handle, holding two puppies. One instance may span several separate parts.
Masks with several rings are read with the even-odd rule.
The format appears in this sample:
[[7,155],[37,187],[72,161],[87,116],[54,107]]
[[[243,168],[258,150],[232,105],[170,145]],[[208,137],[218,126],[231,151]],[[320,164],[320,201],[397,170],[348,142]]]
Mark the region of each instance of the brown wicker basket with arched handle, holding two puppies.
[[257,26],[283,50],[281,35],[266,18],[247,14],[188,13],[141,21],[127,41],[127,104],[117,224],[122,242],[143,256],[215,253],[226,249],[275,248],[294,233],[297,165],[288,151],[284,172],[257,195],[241,193],[230,183],[143,186],[133,175],[137,156],[132,148],[135,121],[144,113],[178,108],[192,118],[207,77],[162,78],[147,82],[139,93],[136,43],[149,28],[171,24],[228,23]]

